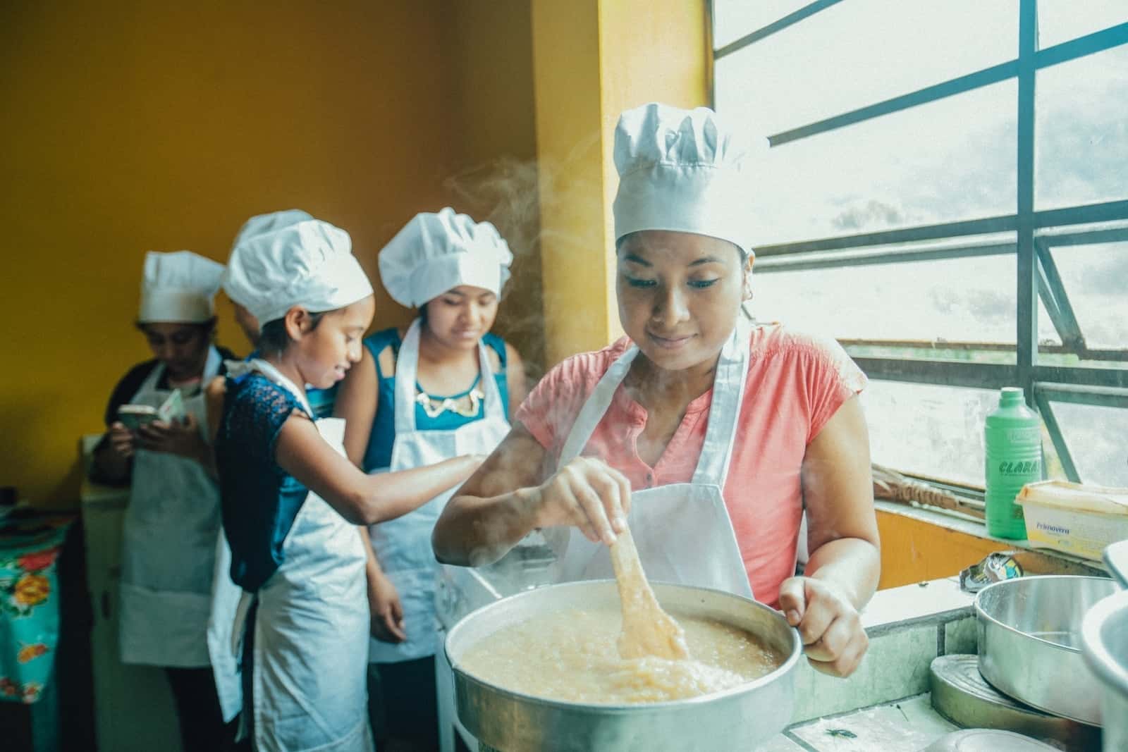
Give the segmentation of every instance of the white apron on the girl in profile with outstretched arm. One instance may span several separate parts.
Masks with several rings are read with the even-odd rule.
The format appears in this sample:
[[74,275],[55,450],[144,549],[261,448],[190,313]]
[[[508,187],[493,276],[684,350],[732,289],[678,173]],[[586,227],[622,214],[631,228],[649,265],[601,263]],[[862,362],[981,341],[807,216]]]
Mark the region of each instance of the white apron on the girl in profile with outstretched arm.
[[[277,369],[250,362],[309,404]],[[310,413],[312,414],[312,413]],[[344,419],[317,430],[344,454]],[[356,525],[310,492],[282,545],[282,565],[258,593],[243,593],[233,627],[241,654],[247,612],[258,602],[252,701],[257,752],[372,752],[368,725],[368,586]]]

